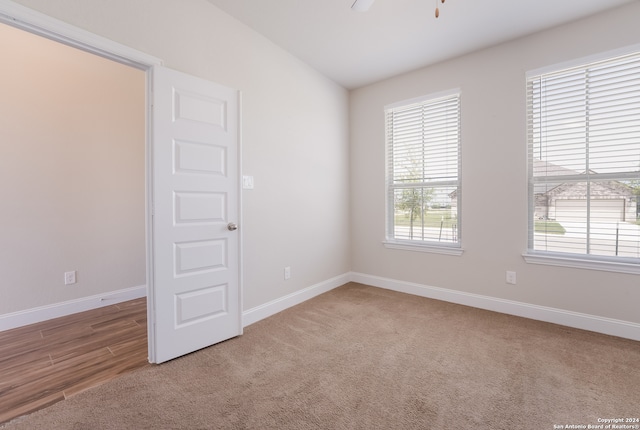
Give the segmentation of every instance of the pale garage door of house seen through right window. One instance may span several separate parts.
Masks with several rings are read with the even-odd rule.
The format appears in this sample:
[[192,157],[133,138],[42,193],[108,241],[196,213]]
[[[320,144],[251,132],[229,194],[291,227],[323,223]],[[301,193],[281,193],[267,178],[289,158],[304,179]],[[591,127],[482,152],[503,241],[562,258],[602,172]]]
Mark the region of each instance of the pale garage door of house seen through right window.
[[[558,221],[586,221],[586,200],[556,200]],[[591,200],[591,222],[624,220],[624,199]]]

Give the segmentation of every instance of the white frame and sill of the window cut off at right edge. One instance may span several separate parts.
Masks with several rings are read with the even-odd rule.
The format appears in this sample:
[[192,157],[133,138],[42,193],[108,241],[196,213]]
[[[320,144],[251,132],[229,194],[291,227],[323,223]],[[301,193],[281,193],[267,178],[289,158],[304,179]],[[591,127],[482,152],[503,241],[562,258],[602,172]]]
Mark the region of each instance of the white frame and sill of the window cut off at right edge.
[[[534,223],[535,223],[535,194],[533,180],[533,160],[534,156],[531,152],[531,136],[529,129],[529,115],[532,113],[530,100],[528,97],[528,87],[531,79],[550,73],[559,73],[564,70],[583,67],[588,69],[595,64],[603,61],[613,60],[618,57],[640,54],[640,44],[624,47],[621,49],[611,50],[576,60],[558,63],[551,66],[542,67],[531,70],[526,73],[525,85],[525,102],[526,102],[526,145],[527,145],[527,250],[522,254],[524,260],[530,264],[542,264],[560,267],[570,267],[579,269],[600,270],[617,273],[640,274],[640,258],[634,257],[618,257],[605,256],[597,254],[570,253],[562,251],[544,251],[533,249],[534,244]],[[603,179],[605,175],[603,175]],[[613,174],[613,176],[624,176],[623,173]]]

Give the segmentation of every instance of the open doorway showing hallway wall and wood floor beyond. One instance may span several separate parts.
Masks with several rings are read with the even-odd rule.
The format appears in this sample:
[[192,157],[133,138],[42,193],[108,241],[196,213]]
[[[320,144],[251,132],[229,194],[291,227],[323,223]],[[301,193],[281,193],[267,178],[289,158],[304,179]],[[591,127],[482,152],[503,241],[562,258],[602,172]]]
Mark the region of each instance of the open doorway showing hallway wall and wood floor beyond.
[[148,311],[145,71],[1,22],[0,55],[0,315],[104,298],[0,333],[1,425],[148,365]]

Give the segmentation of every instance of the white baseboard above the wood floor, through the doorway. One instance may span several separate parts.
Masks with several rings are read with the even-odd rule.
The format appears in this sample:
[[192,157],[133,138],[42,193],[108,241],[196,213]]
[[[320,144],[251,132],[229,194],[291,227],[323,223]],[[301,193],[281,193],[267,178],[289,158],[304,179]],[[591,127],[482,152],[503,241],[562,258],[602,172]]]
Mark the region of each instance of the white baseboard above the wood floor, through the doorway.
[[0,315],[0,331],[10,330],[12,328],[22,327],[91,309],[97,309],[113,305],[115,303],[126,302],[127,300],[146,297],[146,295],[147,286],[140,285],[137,287],[125,288],[109,293],[70,300],[68,302],[56,303],[53,305]]

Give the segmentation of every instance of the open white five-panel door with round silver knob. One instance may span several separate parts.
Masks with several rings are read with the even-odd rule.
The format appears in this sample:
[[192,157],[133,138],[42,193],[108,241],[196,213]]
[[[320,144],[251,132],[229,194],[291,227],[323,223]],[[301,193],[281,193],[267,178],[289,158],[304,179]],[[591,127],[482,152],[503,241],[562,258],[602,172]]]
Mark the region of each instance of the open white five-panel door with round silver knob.
[[242,333],[238,92],[153,70],[150,361]]

